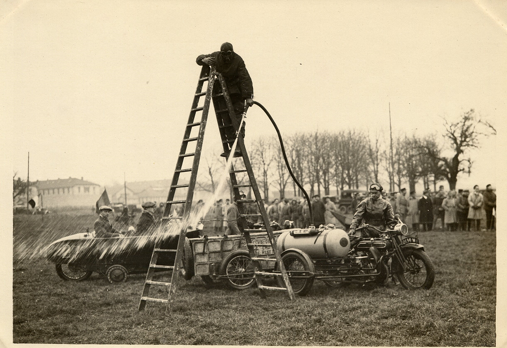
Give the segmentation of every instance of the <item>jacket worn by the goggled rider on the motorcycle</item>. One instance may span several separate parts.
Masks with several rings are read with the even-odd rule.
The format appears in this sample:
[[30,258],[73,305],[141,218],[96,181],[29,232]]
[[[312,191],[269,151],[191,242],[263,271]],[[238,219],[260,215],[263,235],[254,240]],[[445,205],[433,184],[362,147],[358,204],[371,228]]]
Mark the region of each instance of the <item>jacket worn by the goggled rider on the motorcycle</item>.
[[373,225],[379,229],[385,230],[387,227],[393,227],[396,224],[392,206],[383,198],[374,200],[368,197],[357,205],[357,210],[352,218],[350,228],[357,228],[361,220]]

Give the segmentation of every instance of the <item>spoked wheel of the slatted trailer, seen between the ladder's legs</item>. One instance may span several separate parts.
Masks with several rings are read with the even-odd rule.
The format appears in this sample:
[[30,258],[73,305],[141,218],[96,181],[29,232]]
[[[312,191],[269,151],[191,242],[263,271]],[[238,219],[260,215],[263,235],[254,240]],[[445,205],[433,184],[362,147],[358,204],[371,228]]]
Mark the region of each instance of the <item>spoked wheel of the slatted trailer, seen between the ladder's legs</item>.
[[250,254],[246,250],[230,253],[220,265],[220,275],[224,276],[227,286],[236,290],[244,290],[255,283]]

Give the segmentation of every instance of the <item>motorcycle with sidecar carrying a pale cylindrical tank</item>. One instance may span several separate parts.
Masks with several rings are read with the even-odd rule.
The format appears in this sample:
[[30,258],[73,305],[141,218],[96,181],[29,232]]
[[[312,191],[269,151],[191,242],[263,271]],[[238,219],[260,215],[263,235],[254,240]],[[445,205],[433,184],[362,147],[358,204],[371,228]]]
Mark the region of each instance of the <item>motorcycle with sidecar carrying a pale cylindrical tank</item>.
[[[406,289],[431,288],[433,264],[417,238],[402,239],[408,233],[407,225],[399,220],[393,229],[382,231],[365,224],[356,231],[361,231],[361,237],[352,240],[333,225],[293,231],[290,237],[280,235],[277,244],[283,250],[282,261],[294,292],[308,294],[315,279],[339,286],[385,284],[395,277]],[[370,237],[371,231],[378,237]]]

